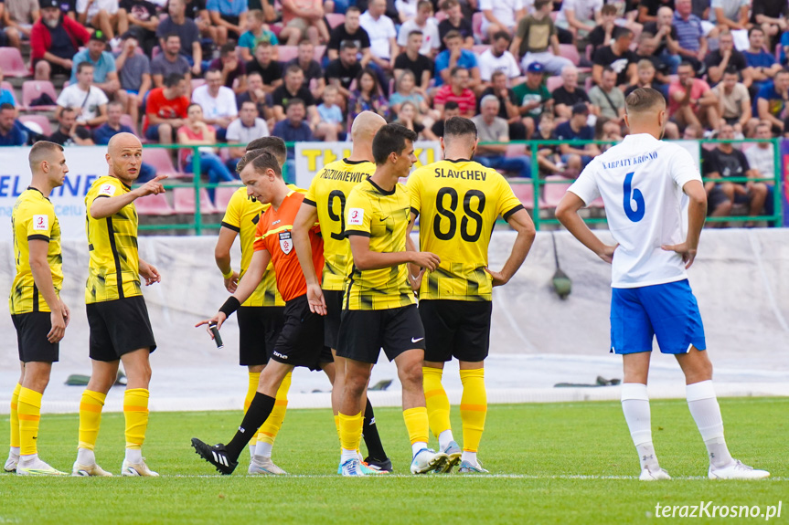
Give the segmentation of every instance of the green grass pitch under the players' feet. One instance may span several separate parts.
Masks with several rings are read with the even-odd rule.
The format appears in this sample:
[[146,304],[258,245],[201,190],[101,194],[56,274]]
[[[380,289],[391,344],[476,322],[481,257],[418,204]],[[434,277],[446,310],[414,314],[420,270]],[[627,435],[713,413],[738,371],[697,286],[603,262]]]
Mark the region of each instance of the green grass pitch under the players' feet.
[[[406,475],[410,446],[399,410],[377,410],[396,475],[346,479],[329,410],[291,410],[274,461],[292,476],[246,476],[246,452],[231,477],[197,457],[189,438],[227,441],[239,412],[151,415],[144,455],[162,478],[120,478],[123,415],[104,415],[97,457],[116,474],[99,478],[0,475],[2,523],[752,523],[759,519],[657,518],[656,504],[754,505],[782,499],[789,522],[786,415],[789,399],[721,399],[734,457],[766,468],[773,479],[710,481],[707,455],[684,400],[652,403],[661,466],[675,479],[639,482],[637,457],[619,403],[492,405],[480,458],[491,476]],[[8,416],[3,423],[3,453]],[[44,415],[39,452],[69,470],[76,454],[77,415]],[[453,407],[455,436],[460,416]],[[460,440],[460,439],[458,439]],[[5,457],[4,457],[5,459]]]

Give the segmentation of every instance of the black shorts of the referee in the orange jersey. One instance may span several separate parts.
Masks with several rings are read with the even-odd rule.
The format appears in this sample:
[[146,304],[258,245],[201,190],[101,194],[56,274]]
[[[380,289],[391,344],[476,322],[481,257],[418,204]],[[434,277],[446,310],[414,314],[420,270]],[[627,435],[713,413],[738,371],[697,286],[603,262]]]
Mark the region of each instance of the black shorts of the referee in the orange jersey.
[[322,362],[334,362],[331,349],[324,345],[324,318],[310,311],[306,295],[285,303],[283,330],[271,359],[310,370],[321,370]]

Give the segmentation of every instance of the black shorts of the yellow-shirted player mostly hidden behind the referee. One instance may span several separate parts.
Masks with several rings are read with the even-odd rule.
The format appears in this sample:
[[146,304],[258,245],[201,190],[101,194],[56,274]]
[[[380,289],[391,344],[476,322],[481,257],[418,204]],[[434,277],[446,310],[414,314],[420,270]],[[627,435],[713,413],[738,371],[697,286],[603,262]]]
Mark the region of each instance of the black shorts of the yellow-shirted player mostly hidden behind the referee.
[[242,306],[239,316],[239,364],[266,364],[283,330],[283,306]]

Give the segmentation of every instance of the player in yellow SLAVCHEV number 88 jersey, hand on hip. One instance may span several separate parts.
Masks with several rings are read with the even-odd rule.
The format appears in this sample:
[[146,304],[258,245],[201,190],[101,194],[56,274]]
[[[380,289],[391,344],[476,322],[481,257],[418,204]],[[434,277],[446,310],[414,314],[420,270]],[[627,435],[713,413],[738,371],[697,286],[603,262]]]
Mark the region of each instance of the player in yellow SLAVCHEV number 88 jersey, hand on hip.
[[[441,257],[438,268],[421,275],[419,312],[425,333],[424,394],[433,434],[450,457],[446,472],[487,472],[476,458],[487,412],[485,357],[490,340],[492,288],[515,275],[534,241],[535,230],[520,201],[496,170],[470,161],[477,136],[474,122],[444,122],[443,161],[423,166],[408,180],[411,225],[420,219],[420,249]],[[503,216],[517,231],[501,271],[487,268],[487,247]],[[443,363],[460,362],[463,397],[463,453],[453,439]]]

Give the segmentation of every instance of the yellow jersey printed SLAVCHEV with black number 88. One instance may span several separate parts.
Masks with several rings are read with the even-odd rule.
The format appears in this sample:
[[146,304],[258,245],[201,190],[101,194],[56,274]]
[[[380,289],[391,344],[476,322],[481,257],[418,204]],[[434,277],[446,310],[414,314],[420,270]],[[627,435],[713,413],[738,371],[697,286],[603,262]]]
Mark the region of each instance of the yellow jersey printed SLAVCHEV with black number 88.
[[441,257],[425,272],[420,299],[491,300],[487,247],[499,215],[523,208],[501,173],[472,161],[439,161],[408,178],[411,211],[420,217],[420,250]]

